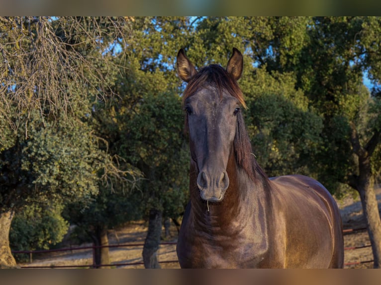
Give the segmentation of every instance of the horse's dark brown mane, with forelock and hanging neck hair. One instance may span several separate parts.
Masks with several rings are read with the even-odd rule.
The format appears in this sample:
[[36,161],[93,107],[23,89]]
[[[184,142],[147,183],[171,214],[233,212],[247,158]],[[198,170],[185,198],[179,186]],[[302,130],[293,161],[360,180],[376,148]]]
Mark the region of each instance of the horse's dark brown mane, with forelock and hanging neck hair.
[[[237,81],[220,65],[209,65],[198,70],[198,72],[189,81],[184,94],[185,100],[197,92],[200,88],[211,85],[217,89],[220,97],[225,90],[233,97],[237,98],[241,105],[246,109],[245,100],[241,88]],[[188,116],[186,117],[186,128],[188,128]],[[254,158],[253,150],[245,129],[242,112],[237,114],[237,131],[234,138],[234,152],[237,165],[244,170],[253,180],[257,175],[266,176],[259,164]]]

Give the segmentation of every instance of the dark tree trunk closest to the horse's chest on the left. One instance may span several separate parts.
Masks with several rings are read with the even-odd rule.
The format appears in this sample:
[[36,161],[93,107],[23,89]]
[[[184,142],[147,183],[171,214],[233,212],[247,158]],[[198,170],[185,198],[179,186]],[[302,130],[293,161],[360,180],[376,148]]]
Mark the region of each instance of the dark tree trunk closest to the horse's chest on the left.
[[159,210],[151,209],[148,232],[143,247],[143,262],[145,268],[160,268],[157,251],[160,245],[162,213]]

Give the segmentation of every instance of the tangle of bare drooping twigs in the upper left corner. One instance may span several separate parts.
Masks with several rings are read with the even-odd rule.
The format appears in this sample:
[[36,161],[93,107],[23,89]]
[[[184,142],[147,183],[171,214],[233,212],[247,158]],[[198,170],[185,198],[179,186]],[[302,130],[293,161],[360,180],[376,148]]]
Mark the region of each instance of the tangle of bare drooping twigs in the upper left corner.
[[[16,130],[27,111],[42,117],[89,108],[121,72],[110,44],[127,42],[123,17],[0,17],[0,116]],[[123,51],[123,49],[121,49]],[[122,63],[125,55],[119,56]],[[21,123],[24,125],[24,123]]]

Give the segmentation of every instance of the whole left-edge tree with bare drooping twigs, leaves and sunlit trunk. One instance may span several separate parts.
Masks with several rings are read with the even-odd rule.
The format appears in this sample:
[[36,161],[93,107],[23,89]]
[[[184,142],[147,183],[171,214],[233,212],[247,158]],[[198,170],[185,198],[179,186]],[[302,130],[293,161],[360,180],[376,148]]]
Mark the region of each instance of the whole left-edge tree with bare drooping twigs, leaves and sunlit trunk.
[[97,147],[87,120],[109,95],[103,74],[119,67],[110,54],[130,20],[0,17],[1,265],[15,265],[8,231],[23,205],[86,200],[99,180],[129,173]]

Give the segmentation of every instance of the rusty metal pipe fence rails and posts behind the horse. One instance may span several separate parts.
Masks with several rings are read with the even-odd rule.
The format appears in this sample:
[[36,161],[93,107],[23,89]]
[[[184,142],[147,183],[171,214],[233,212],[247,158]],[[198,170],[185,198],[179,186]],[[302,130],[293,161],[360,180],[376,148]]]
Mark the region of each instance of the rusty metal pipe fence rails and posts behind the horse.
[[[358,231],[366,230],[366,227],[361,228],[349,228],[344,229],[344,234],[352,234]],[[170,242],[162,242],[160,245],[174,245],[176,244],[175,241]],[[49,250],[14,250],[12,251],[13,254],[17,253],[24,253],[30,255],[30,263],[32,261],[32,254],[37,253],[49,253],[49,252],[63,252],[63,251],[75,251],[75,250],[85,250],[85,249],[92,249],[93,251],[93,265],[50,265],[50,266],[21,266],[21,268],[97,268],[97,267],[110,267],[110,266],[133,266],[133,265],[143,265],[143,262],[130,262],[130,263],[113,263],[113,264],[96,264],[95,263],[95,249],[97,248],[114,248],[114,247],[133,247],[133,246],[144,246],[144,243],[124,243],[124,244],[112,244],[112,245],[103,245],[103,246],[78,246],[78,247],[67,247],[67,248],[58,248],[58,249],[49,249]],[[344,247],[344,250],[355,250],[360,248],[366,248],[371,247],[371,245],[362,245],[362,246],[350,246],[350,247]],[[168,260],[168,261],[159,261],[159,263],[177,263],[178,260]],[[351,265],[359,265],[364,263],[371,263],[374,262],[374,260],[367,260],[367,261],[356,261],[356,262],[348,262],[345,263],[345,266],[351,266]]]

